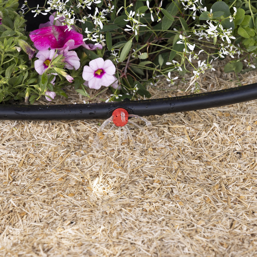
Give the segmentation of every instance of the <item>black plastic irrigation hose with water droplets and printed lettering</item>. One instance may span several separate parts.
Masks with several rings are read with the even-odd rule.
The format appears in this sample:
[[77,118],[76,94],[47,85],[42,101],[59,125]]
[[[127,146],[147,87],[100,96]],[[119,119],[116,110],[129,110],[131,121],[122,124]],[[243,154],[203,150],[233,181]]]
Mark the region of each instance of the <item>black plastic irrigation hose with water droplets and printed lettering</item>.
[[139,116],[162,115],[236,104],[257,99],[257,83],[169,98],[96,104],[1,105],[0,120],[107,119],[117,108]]

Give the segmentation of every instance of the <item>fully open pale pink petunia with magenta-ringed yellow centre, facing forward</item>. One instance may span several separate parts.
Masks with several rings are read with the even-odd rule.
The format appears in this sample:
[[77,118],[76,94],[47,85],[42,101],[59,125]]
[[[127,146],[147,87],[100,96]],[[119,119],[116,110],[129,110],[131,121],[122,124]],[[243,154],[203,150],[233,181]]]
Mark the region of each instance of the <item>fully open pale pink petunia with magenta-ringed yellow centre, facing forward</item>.
[[96,58],[89,62],[89,66],[84,66],[82,77],[88,81],[89,88],[99,89],[101,86],[108,87],[115,81],[115,71],[111,60]]

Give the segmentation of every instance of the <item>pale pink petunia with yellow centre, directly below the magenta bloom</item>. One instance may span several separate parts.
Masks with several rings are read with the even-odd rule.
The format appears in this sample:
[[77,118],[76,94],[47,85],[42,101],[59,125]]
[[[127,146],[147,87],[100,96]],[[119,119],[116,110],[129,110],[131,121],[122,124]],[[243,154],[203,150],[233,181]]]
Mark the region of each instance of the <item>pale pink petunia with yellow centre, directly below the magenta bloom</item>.
[[[53,49],[38,51],[36,57],[39,59],[35,60],[34,62],[35,70],[38,72],[38,74],[42,75],[45,72],[45,70],[49,67],[51,60],[53,59],[54,54],[55,50]],[[57,55],[58,54],[56,54],[55,57]]]

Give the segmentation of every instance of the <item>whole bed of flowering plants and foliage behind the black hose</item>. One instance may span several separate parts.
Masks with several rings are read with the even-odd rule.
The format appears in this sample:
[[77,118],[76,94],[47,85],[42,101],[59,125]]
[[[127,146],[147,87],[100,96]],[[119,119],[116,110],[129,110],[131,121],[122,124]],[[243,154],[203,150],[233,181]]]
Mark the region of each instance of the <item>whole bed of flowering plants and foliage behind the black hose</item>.
[[[190,72],[196,88],[227,56],[225,72],[253,69],[256,8],[247,0],[0,0],[0,102],[68,97],[70,83],[87,102],[106,89],[106,102],[149,98],[160,76],[171,86]],[[39,16],[48,21],[26,29]]]

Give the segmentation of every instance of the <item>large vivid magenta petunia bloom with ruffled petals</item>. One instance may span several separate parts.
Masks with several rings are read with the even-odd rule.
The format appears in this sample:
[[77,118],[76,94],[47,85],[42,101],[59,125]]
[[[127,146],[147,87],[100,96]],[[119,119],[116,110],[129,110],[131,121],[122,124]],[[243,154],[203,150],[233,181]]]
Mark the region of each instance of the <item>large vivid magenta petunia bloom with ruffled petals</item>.
[[75,49],[80,45],[85,47],[83,35],[74,30],[68,30],[67,26],[48,26],[30,32],[30,39],[38,50],[58,49],[66,47]]

